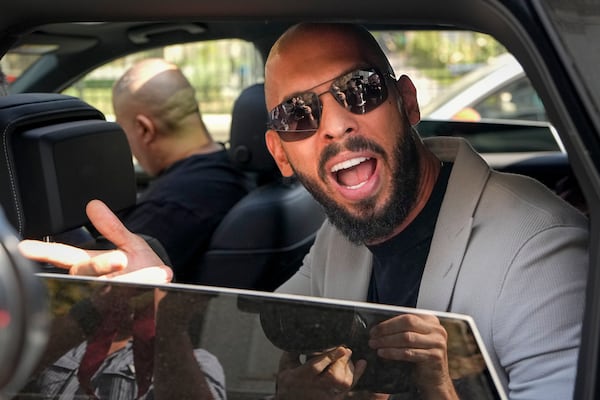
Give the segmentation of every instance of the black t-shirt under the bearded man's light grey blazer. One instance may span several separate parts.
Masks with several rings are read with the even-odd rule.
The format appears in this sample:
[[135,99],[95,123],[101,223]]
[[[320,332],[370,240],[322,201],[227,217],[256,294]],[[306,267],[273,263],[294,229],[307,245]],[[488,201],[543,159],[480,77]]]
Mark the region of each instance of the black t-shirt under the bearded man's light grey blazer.
[[423,210],[402,232],[375,246],[367,301],[416,307],[419,286],[452,163],[444,163]]

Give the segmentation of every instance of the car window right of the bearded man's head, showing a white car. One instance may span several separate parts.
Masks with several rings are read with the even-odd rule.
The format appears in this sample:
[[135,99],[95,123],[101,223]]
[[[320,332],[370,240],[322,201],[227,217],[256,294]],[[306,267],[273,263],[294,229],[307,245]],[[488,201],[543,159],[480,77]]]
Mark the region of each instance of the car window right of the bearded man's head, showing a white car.
[[[467,138],[482,153],[562,148],[549,124],[542,129],[529,124],[547,122],[544,105],[519,62],[494,38],[469,31],[374,34],[396,76],[406,74],[413,80],[424,120],[493,120],[524,125],[499,129],[495,124],[480,124],[479,129],[468,133],[453,133]],[[433,135],[430,126],[422,124],[423,136]],[[443,131],[448,134],[448,129]]]

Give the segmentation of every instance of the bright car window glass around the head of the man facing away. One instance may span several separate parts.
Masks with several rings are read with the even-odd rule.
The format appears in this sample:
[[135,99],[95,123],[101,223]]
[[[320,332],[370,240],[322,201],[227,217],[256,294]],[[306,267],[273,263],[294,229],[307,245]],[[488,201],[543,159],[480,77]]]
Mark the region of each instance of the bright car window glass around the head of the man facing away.
[[177,44],[105,64],[67,88],[114,120],[112,86],[136,61],[161,57],[177,64],[196,89],[207,128],[217,141],[229,139],[233,102],[245,87],[263,81],[263,62],[252,43],[236,39]]

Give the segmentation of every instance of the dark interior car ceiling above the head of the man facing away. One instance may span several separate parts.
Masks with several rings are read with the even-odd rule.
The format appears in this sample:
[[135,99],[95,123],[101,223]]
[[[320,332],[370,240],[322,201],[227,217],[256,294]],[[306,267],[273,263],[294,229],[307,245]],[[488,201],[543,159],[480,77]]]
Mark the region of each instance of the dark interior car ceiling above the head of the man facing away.
[[130,21],[99,23],[55,23],[36,27],[22,36],[12,51],[40,51],[42,57],[14,82],[13,93],[25,91],[59,92],[85,73],[107,61],[134,52],[166,46],[221,38],[252,42],[266,58],[275,38],[286,23]]

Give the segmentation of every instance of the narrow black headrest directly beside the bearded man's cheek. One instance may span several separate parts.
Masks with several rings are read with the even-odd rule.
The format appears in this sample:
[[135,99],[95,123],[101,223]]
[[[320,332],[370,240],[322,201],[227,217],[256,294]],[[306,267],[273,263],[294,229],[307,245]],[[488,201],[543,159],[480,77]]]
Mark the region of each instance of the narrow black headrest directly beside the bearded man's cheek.
[[244,89],[231,114],[230,155],[234,164],[244,171],[280,176],[265,144],[267,116],[264,84]]

